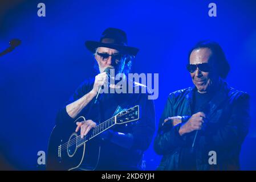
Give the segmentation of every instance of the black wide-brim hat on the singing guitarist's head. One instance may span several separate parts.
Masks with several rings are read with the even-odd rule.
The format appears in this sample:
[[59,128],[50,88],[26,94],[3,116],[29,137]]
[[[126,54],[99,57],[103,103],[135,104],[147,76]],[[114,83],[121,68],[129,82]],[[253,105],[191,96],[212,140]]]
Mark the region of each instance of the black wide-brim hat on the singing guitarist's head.
[[107,28],[101,34],[100,42],[88,40],[86,41],[86,47],[93,53],[98,47],[117,49],[122,54],[133,56],[136,56],[139,51],[138,48],[127,46],[127,36],[123,30],[118,28]]

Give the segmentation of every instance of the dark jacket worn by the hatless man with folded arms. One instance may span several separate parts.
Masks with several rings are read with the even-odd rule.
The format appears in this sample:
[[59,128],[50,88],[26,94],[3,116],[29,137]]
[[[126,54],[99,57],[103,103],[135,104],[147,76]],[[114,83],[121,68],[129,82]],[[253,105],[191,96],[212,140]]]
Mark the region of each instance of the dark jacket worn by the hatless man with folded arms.
[[[192,97],[195,90],[196,88],[187,88],[169,94],[154,142],[156,153],[163,155],[158,170],[182,170],[180,159],[184,156],[181,151],[192,143],[188,140],[188,135],[181,137],[178,130],[192,115]],[[198,132],[198,140],[194,146],[196,169],[239,169],[239,152],[250,123],[249,95],[221,81],[220,89],[206,107],[209,121],[205,130]],[[171,124],[162,126],[165,118],[177,115],[183,116],[182,123],[174,127]],[[209,164],[209,151],[216,151],[216,165]]]

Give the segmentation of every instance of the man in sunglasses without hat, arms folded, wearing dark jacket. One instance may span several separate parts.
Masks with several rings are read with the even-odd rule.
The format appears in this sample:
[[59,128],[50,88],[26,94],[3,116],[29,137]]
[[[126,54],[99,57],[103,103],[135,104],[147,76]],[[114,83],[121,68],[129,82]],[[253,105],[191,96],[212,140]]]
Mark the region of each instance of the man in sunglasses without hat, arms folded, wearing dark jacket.
[[186,66],[194,88],[170,93],[154,148],[159,170],[238,170],[249,130],[249,95],[225,81],[229,64],[214,42],[199,42]]

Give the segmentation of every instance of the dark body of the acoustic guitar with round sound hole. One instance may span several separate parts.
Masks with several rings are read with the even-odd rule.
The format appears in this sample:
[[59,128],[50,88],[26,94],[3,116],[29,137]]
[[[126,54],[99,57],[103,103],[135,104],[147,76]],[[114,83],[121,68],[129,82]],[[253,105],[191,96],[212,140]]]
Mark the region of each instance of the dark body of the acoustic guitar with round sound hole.
[[46,170],[94,170],[100,154],[100,143],[92,139],[79,147],[76,141],[79,134],[75,133],[76,121],[70,126],[55,126],[48,143]]

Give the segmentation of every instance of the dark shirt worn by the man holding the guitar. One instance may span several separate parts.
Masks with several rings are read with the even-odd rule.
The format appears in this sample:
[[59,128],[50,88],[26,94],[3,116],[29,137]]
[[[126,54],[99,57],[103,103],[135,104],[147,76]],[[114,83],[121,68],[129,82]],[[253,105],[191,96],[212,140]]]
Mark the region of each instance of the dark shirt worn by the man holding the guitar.
[[[67,104],[78,100],[93,88],[94,79],[83,82],[76,89],[74,95]],[[133,84],[133,90],[141,89],[141,85]],[[128,85],[127,85],[128,87]],[[128,88],[127,88],[128,89]],[[125,148],[119,144],[104,140],[101,142],[100,163],[97,169],[100,170],[138,170],[141,168],[143,153],[149,147],[153,134],[155,132],[155,107],[152,100],[148,100],[148,93],[103,93],[100,95],[99,103],[94,104],[92,100],[79,113],[78,117],[83,115],[86,119],[92,119],[96,123],[101,123],[111,118],[116,112],[122,109],[129,109],[135,105],[140,106],[140,119],[135,122],[129,122],[126,125],[115,125],[109,131],[114,133],[124,133],[125,136],[132,135],[132,147]],[[119,111],[117,111],[119,110]],[[69,117],[66,107],[63,107],[58,113],[56,119],[57,125],[64,122],[72,122],[74,119]],[[115,137],[115,135],[113,135]],[[127,140],[120,140],[124,144]]]

